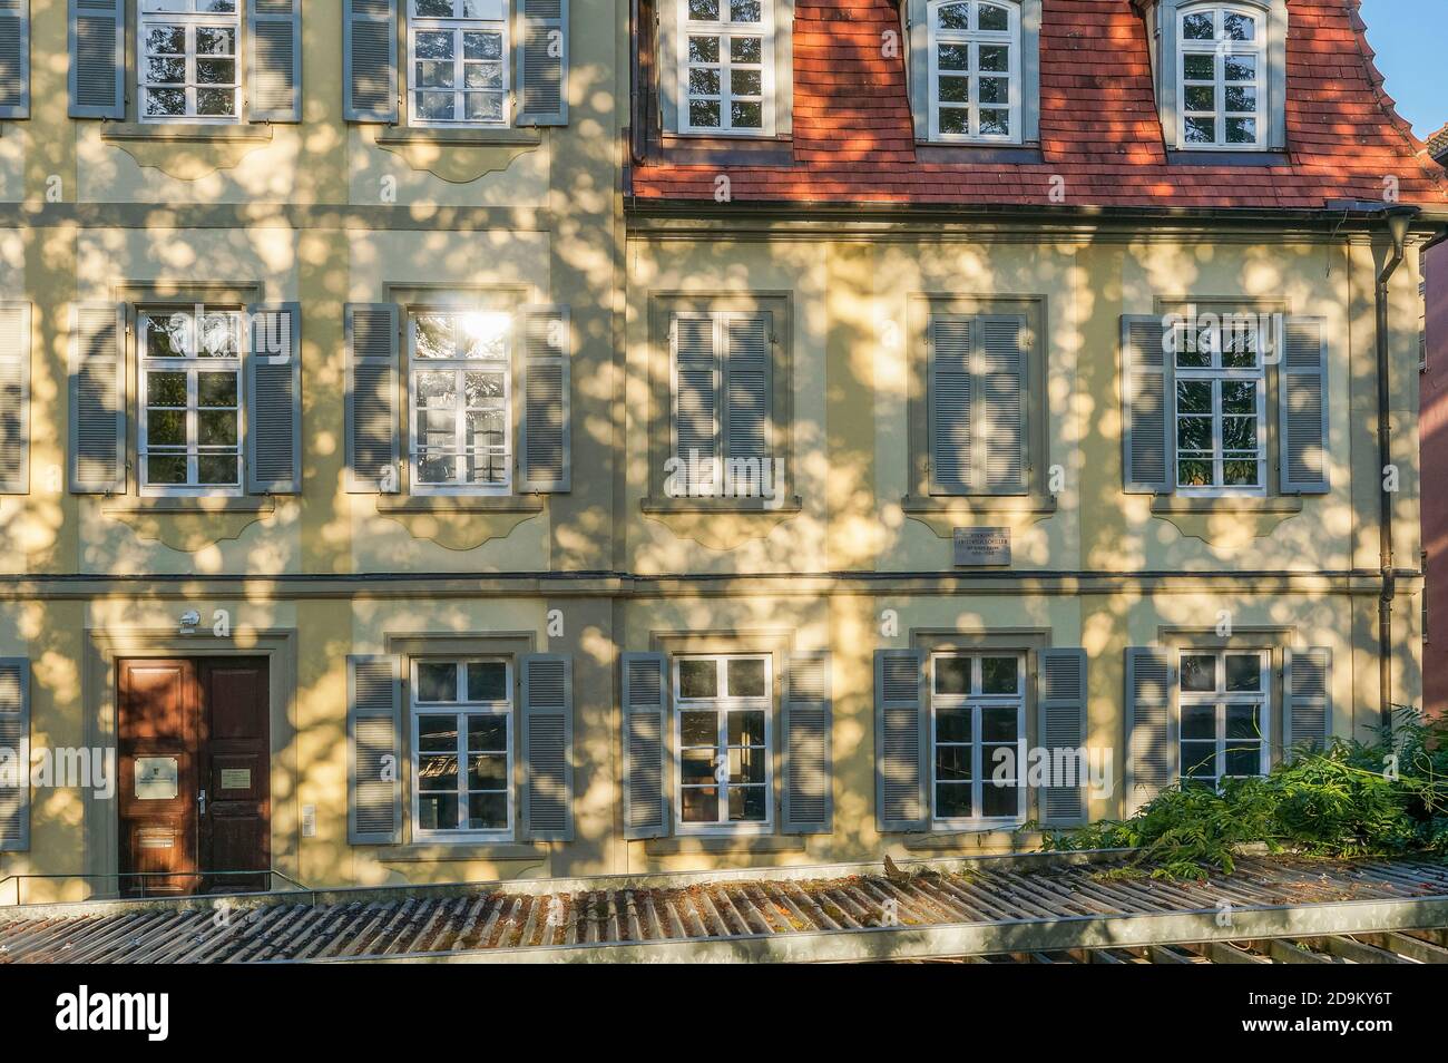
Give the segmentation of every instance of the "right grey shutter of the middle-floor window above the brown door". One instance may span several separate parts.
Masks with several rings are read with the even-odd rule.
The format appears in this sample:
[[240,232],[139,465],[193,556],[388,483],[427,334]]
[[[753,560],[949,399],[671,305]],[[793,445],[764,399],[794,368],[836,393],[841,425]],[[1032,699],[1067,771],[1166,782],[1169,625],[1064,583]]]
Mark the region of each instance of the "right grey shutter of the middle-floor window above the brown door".
[[248,307],[246,490],[301,491],[301,306]]

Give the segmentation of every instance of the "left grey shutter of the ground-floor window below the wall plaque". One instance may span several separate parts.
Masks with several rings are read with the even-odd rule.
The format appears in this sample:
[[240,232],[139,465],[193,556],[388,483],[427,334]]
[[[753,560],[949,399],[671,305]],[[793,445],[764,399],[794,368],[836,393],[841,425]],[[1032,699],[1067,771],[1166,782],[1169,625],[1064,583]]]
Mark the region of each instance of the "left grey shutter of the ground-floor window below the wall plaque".
[[882,834],[930,825],[925,656],[875,652],[875,818]]

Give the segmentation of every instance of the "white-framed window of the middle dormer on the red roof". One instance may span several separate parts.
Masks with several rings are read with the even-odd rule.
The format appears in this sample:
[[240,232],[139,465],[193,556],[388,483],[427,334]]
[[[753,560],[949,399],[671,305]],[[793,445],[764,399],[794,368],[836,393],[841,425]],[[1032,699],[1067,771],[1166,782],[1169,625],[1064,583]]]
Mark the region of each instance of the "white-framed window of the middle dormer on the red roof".
[[998,0],[934,0],[930,139],[1021,142],[1021,9]]

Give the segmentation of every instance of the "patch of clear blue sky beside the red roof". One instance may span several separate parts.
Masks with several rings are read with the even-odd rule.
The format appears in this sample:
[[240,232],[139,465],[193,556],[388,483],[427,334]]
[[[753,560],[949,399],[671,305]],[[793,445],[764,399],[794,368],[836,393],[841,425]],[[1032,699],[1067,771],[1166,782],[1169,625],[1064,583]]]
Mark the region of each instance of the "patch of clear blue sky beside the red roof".
[[1428,136],[1448,122],[1445,0],[1363,0],[1367,39],[1397,113]]

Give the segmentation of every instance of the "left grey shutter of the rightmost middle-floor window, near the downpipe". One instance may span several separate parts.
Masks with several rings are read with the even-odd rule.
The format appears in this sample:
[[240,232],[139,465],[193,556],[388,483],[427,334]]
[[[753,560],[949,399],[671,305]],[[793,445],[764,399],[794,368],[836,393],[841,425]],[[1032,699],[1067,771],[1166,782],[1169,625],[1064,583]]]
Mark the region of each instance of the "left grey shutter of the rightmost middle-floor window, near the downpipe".
[[1121,461],[1127,494],[1170,494],[1176,481],[1174,365],[1156,314],[1121,319]]

